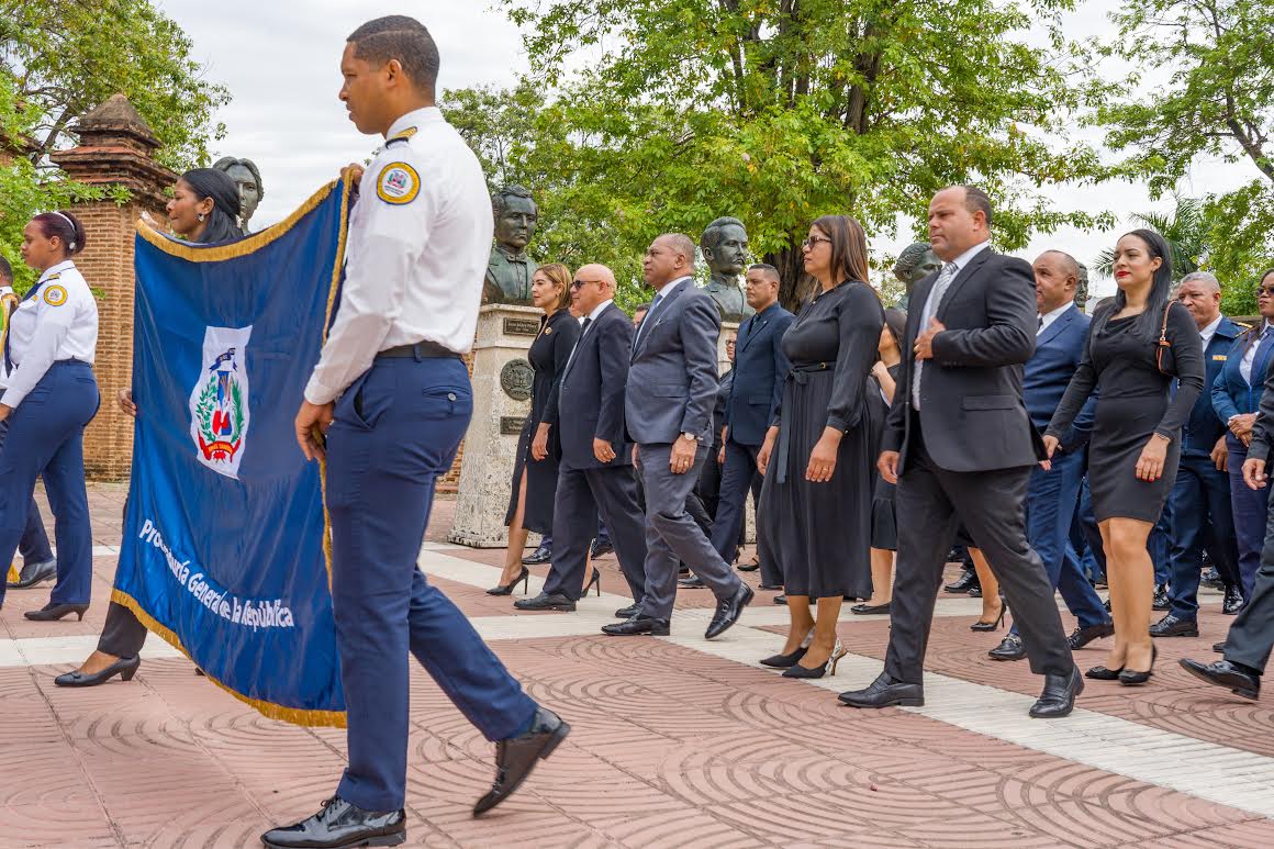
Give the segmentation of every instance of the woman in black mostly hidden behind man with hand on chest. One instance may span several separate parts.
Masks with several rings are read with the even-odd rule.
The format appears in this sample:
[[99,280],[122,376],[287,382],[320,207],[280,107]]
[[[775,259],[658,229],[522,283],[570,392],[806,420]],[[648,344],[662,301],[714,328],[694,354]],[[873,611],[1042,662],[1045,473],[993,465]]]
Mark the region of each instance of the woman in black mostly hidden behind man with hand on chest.
[[[877,354],[880,357],[871,366],[868,377],[868,413],[871,421],[871,441],[880,445],[884,433],[884,419],[893,404],[893,394],[898,389],[898,376],[902,374],[902,339],[907,329],[907,314],[891,307],[884,311],[884,328],[880,330],[880,344]],[[855,604],[851,612],[859,616],[888,613],[893,600],[893,560],[898,553],[898,520],[893,504],[894,484],[875,474],[871,491],[871,598],[862,604]]]

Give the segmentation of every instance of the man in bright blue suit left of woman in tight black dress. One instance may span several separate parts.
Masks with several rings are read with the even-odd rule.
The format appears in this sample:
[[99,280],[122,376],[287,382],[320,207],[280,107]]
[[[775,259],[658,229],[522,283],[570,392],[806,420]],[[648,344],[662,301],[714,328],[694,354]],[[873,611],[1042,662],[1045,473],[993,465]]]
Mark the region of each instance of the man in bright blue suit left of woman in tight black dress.
[[[1070,376],[1083,359],[1089,319],[1075,306],[1079,263],[1074,256],[1045,251],[1032,268],[1040,317],[1036,351],[1023,370],[1022,398],[1031,423],[1042,433],[1070,385]],[[1069,544],[1079,487],[1084,481],[1094,408],[1096,399],[1089,399],[1054,454],[1050,468],[1032,469],[1027,484],[1027,539],[1043,561],[1049,581],[1061,591],[1066,607],[1079,620],[1069,637],[1073,650],[1115,632],[1110,613],[1080,571],[1079,558]],[[1027,657],[1017,618],[1013,617],[1013,628],[1004,641],[989,653],[992,660]]]

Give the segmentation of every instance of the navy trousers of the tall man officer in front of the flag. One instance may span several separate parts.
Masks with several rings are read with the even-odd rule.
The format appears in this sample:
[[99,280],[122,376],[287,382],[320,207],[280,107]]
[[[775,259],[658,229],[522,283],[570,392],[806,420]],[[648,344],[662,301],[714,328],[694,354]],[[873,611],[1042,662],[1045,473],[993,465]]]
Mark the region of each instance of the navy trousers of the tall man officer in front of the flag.
[[327,431],[333,612],[348,715],[338,793],[368,811],[406,795],[408,653],[490,741],[530,727],[522,692],[469,620],[417,567],[434,482],[451,468],[473,394],[459,358],[377,359]]

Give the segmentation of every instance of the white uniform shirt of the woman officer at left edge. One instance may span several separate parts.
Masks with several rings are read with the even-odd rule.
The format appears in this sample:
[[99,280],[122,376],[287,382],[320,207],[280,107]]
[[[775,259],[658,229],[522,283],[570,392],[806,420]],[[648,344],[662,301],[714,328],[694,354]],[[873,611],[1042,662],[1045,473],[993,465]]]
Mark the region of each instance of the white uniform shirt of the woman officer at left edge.
[[[70,260],[39,275],[9,323],[14,370],[0,379],[0,403],[18,407],[59,359],[93,363],[97,353],[97,301]],[[3,368],[0,368],[3,371]]]

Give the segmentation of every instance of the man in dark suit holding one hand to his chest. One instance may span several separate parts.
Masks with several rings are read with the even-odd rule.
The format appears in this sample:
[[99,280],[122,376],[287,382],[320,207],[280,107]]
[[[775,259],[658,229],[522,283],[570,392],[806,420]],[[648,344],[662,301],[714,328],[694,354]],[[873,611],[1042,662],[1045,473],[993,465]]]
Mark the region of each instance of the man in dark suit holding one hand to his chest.
[[943,561],[958,524],[978,542],[1022,631],[1031,671],[1045,676],[1031,715],[1068,715],[1083,678],[1052,586],[1027,544],[1024,505],[1043,444],[1022,400],[1034,353],[1034,280],[1023,260],[990,249],[991,201],[952,186],[929,204],[943,260],[911,293],[902,379],[885,423],[880,474],[897,481],[898,563],[884,672],[841,693],[854,708],[922,705],[924,660]]

